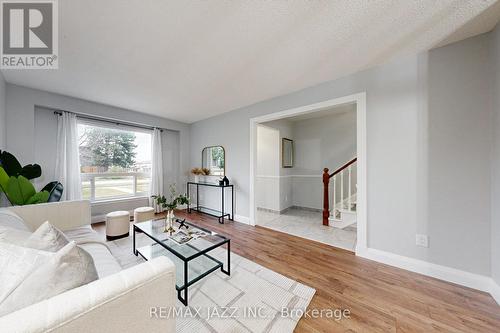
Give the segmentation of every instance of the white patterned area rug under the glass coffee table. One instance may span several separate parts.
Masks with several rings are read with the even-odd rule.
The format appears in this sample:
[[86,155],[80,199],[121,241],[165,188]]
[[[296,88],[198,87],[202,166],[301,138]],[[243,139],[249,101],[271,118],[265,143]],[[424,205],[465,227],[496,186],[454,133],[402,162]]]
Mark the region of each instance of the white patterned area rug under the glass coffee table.
[[[136,234],[136,243],[152,241]],[[132,235],[107,244],[123,268],[143,262],[132,253]],[[210,254],[226,262],[226,249]],[[196,315],[178,317],[177,332],[293,332],[315,292],[231,252],[231,276],[219,270],[189,287],[188,304]]]

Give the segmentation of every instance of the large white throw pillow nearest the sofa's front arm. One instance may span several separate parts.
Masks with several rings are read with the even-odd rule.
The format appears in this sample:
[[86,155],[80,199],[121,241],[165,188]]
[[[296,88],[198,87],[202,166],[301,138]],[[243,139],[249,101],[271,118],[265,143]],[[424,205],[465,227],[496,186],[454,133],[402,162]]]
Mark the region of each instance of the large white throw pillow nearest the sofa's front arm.
[[92,257],[75,242],[56,253],[46,253],[49,257],[0,303],[0,316],[97,280]]

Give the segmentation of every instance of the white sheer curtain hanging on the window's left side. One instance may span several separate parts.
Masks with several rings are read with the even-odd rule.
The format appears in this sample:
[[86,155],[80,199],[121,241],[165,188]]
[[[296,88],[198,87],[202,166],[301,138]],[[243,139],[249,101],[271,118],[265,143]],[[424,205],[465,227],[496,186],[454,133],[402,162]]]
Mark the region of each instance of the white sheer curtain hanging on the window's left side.
[[57,118],[56,179],[64,186],[61,200],[82,198],[78,125],[76,115],[70,112]]

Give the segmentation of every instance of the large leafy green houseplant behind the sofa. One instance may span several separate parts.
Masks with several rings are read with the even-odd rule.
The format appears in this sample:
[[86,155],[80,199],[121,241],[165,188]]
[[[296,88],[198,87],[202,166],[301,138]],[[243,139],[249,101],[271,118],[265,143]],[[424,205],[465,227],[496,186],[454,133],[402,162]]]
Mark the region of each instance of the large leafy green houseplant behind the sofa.
[[47,184],[37,192],[30,180],[42,175],[38,164],[21,166],[17,158],[0,150],[0,192],[4,192],[12,205],[31,205],[59,201],[63,187],[59,182]]

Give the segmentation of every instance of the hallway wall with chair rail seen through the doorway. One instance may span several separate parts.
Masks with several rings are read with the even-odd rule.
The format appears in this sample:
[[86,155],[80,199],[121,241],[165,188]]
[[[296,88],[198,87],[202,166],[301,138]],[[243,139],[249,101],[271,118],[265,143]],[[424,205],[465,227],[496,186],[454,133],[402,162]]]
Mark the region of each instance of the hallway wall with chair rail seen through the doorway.
[[[322,209],[323,168],[328,167],[333,171],[356,156],[355,105],[342,106],[341,109],[330,112],[331,114],[327,114],[326,111],[321,111],[319,116],[313,115],[309,119],[292,117],[263,123],[279,131],[280,149],[282,138],[294,141],[293,168],[282,168],[280,165],[279,210],[291,206]],[[279,154],[281,156],[281,151]],[[257,198],[264,191],[272,193],[271,183],[278,181],[268,179],[263,189],[259,185],[263,183],[262,177],[259,177],[260,172],[257,171],[257,175]]]

